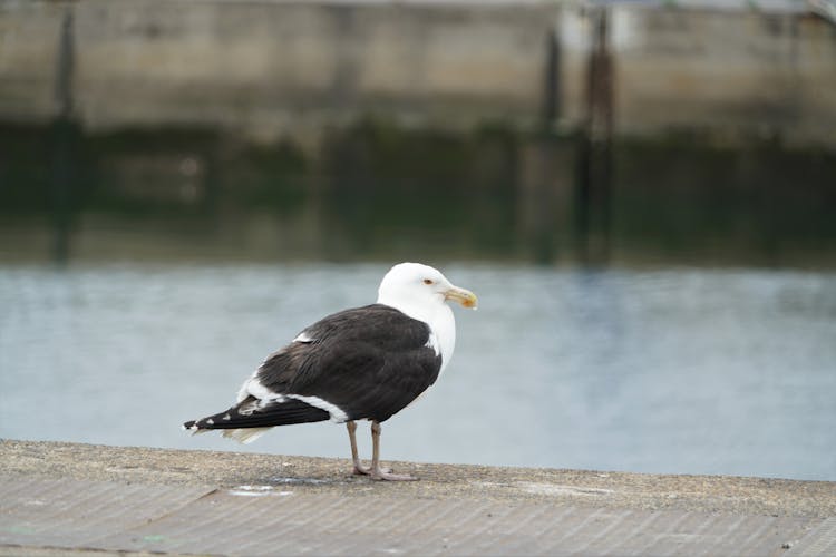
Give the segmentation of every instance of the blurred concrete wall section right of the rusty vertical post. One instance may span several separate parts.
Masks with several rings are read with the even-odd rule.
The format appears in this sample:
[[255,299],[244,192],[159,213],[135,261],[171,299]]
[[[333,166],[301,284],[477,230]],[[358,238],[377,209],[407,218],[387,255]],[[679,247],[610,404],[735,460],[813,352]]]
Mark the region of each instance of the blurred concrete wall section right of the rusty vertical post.
[[816,17],[618,8],[619,129],[836,145],[836,26]]

